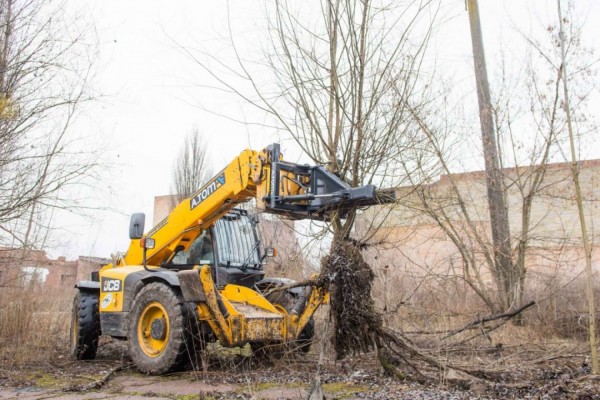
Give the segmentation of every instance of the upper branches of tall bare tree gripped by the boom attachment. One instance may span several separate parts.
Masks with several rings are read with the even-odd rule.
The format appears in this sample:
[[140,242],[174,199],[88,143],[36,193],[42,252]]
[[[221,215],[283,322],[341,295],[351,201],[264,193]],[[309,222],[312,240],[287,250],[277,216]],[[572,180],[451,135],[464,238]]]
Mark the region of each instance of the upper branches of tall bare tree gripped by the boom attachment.
[[[419,140],[407,105],[419,104],[427,88],[421,66],[435,4],[323,0],[318,14],[306,14],[299,3],[276,1],[264,53],[267,81],[253,74],[235,38],[237,68],[210,53],[183,50],[221,89],[266,113],[314,162],[353,186],[399,185],[401,166],[413,162],[409,149]],[[216,64],[249,82],[249,90]],[[335,234],[347,237],[354,219],[351,212],[336,220]]]

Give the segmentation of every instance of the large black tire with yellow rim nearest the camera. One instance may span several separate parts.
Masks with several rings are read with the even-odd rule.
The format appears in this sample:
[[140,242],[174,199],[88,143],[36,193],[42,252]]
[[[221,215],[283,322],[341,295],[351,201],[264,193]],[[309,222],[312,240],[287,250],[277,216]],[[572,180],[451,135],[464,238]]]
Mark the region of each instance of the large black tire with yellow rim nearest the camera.
[[141,372],[152,375],[182,369],[189,360],[187,317],[173,289],[153,282],[134,300],[129,320],[129,353]]

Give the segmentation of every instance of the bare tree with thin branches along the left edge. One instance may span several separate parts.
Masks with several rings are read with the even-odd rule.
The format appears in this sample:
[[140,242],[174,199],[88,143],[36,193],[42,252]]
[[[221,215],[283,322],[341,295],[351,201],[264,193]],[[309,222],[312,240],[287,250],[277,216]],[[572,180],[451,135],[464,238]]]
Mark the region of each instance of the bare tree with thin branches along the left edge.
[[100,152],[73,123],[96,46],[63,3],[0,1],[0,240],[44,247],[52,210],[74,211],[71,188],[94,175]]

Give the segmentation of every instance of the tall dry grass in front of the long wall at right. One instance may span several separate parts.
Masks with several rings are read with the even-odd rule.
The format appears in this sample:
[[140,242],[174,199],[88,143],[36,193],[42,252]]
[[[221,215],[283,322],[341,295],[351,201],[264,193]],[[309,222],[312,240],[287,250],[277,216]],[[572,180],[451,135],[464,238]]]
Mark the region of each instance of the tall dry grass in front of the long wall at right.
[[[451,331],[490,314],[481,299],[459,278],[411,277],[382,269],[375,272],[373,297],[377,307],[383,310],[386,326],[393,329],[407,333]],[[596,283],[595,298],[596,310],[600,311],[600,282]],[[589,319],[583,277],[532,275],[524,303],[530,300],[536,305],[524,313],[523,326],[519,328],[520,332],[527,332],[526,340],[587,339]],[[600,312],[596,319],[600,322]],[[521,339],[524,339],[522,334],[515,335],[512,342]]]

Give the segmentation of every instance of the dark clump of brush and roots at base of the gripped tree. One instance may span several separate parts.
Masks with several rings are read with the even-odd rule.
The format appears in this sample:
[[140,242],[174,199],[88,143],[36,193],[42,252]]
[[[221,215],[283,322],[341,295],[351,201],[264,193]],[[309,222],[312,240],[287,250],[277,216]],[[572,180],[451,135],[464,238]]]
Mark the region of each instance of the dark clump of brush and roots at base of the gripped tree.
[[[371,297],[375,274],[365,262],[360,247],[352,239],[334,240],[330,254],[321,261],[321,274],[315,282],[317,286],[329,290],[330,321],[333,323],[330,341],[337,359],[375,350],[381,367],[388,375],[405,379],[404,369],[409,368],[414,372],[415,378],[423,382],[436,381],[440,372],[443,373],[444,380],[461,385],[480,382],[481,376],[489,375],[477,367],[452,364],[447,359],[440,360],[420,349],[401,333],[385,327],[382,315],[376,310]],[[443,341],[447,337],[475,328],[485,334],[533,304],[534,302],[530,302],[510,312],[476,318],[462,328],[441,332],[445,335],[439,340]],[[492,321],[498,322],[493,326],[485,325]],[[429,338],[431,340],[431,336]],[[473,336],[467,340],[471,339]],[[309,390],[310,400],[324,398],[319,376],[324,349],[323,345],[319,368]]]

